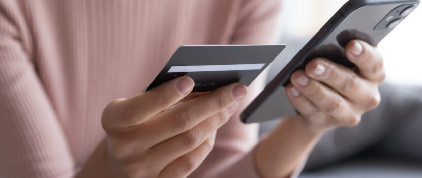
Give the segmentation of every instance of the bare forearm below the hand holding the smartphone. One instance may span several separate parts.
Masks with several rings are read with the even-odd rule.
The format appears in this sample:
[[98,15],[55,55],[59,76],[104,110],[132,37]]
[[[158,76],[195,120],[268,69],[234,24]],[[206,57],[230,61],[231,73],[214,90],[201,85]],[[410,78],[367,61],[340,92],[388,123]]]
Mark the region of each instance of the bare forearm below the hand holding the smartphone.
[[303,117],[285,118],[256,150],[255,165],[263,177],[287,177],[322,135],[304,127]]

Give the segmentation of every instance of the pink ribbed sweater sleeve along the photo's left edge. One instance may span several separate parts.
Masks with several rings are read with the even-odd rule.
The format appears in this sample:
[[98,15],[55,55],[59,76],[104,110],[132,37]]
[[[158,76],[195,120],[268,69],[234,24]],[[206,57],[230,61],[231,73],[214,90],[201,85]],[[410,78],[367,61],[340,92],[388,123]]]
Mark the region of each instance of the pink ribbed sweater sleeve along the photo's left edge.
[[25,43],[16,1],[0,1],[0,177],[68,177],[73,161]]

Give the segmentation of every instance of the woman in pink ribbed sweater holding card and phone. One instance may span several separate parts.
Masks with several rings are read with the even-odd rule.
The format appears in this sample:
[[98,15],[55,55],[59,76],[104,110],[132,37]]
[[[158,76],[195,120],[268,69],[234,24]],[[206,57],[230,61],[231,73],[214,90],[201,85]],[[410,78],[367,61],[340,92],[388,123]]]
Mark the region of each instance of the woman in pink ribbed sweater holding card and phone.
[[273,43],[280,1],[22,0],[0,9],[2,177],[294,176],[325,131],[378,105],[385,76],[361,41],[346,46],[358,72],[313,60],[286,90],[301,114],[257,143],[257,125],[236,111],[262,79],[198,95],[181,77],[138,93],[180,45]]

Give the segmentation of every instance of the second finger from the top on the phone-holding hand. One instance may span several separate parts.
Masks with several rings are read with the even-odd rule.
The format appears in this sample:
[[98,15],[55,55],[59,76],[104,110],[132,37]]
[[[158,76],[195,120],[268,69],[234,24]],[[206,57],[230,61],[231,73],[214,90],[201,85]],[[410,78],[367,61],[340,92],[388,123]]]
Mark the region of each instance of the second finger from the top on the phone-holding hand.
[[[367,102],[378,91],[351,69],[330,60],[316,58],[305,67],[306,74],[321,81],[353,102]],[[365,103],[370,104],[370,103]]]

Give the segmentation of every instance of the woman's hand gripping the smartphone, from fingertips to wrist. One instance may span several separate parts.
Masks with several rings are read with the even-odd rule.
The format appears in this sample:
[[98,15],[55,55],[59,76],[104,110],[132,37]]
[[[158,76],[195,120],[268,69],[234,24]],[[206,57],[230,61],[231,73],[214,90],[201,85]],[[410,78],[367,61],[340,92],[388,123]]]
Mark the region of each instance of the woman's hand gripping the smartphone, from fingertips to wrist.
[[375,47],[353,40],[345,47],[356,70],[316,58],[292,74],[287,95],[312,132],[355,126],[362,114],[380,103],[379,84],[385,79],[383,60]]

